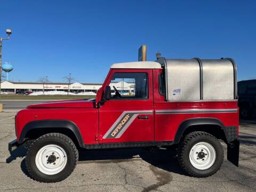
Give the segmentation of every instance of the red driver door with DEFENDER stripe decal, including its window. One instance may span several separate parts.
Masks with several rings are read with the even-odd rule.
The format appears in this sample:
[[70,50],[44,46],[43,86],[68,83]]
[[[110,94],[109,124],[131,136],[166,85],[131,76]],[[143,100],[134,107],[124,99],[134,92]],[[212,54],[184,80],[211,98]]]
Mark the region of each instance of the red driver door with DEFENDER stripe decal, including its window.
[[111,97],[99,109],[100,143],[154,141],[152,70],[113,69],[110,78]]

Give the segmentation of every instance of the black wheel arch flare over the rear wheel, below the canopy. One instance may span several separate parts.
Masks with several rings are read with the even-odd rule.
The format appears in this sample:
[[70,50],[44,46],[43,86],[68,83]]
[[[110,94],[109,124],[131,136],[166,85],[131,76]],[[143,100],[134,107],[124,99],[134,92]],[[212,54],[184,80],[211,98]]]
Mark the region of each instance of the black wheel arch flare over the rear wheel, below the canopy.
[[[230,128],[231,127],[231,128]],[[229,129],[231,132],[236,131],[236,126],[226,127],[217,118],[190,118],[183,121],[177,130],[174,137],[174,143],[179,143],[181,138],[194,131],[204,131],[214,135],[217,139],[221,139],[225,142],[234,140],[229,135]],[[233,131],[234,130],[234,131]]]

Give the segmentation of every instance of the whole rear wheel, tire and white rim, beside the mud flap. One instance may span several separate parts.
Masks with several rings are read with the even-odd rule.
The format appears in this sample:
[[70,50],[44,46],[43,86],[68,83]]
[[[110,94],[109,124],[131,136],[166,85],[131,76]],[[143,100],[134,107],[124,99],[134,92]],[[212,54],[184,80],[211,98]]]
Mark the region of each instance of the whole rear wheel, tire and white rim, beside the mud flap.
[[186,135],[178,150],[181,167],[193,177],[209,177],[223,162],[223,149],[213,135],[196,131]]

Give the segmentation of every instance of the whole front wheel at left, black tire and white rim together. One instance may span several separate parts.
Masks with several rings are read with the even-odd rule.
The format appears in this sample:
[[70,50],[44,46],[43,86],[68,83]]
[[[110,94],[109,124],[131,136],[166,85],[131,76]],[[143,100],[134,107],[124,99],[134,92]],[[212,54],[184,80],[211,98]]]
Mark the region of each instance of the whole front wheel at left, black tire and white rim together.
[[75,169],[78,151],[74,142],[64,134],[49,133],[39,137],[29,147],[26,168],[39,182],[59,182]]

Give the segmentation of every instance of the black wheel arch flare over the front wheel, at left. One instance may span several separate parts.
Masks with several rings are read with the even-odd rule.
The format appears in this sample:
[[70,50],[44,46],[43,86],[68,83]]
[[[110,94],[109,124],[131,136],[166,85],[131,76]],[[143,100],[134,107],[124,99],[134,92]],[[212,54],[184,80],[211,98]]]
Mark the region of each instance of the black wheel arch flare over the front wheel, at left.
[[79,147],[84,147],[82,134],[78,126],[69,120],[44,119],[27,123],[20,134],[18,143],[22,143],[27,138],[36,139],[47,133],[62,133],[72,139]]

